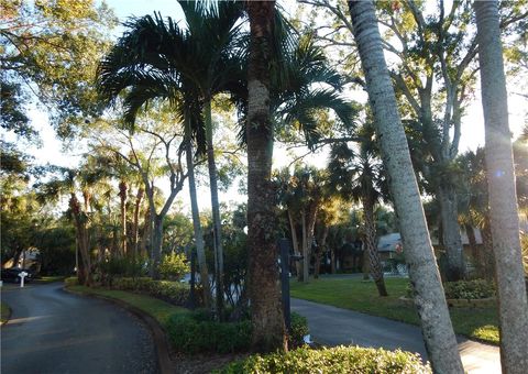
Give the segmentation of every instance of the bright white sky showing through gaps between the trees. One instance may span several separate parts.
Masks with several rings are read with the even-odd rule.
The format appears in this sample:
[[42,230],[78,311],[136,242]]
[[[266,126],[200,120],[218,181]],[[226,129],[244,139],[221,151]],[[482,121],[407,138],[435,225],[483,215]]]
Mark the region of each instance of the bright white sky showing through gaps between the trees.
[[[125,21],[127,18],[132,15],[141,16],[144,14],[152,14],[154,11],[160,11],[163,16],[170,15],[175,20],[182,19],[182,10],[175,0],[107,0],[107,3],[114,10],[120,21]],[[287,11],[293,12],[295,9],[295,1],[293,0],[282,1],[280,3]],[[118,28],[114,32],[116,37],[119,37],[122,31],[123,28]],[[517,89],[517,87],[508,88]],[[484,145],[484,119],[479,87],[474,94],[475,100],[470,105],[468,113],[462,121],[460,153],[463,153],[468,150],[475,150],[479,145]],[[526,113],[528,112],[528,100],[515,94],[510,94],[508,99],[510,113],[509,124],[515,139],[520,133],[525,123]],[[47,122],[47,118],[43,111],[43,108],[32,107],[30,109],[30,118],[35,128],[40,130],[43,146],[41,148],[33,147],[29,150],[29,152],[35,156],[40,164],[52,163],[62,166],[75,166],[78,164],[82,150],[77,148],[67,153],[63,152],[62,144],[55,138],[54,132]],[[284,147],[276,146],[274,152],[274,167],[278,168],[287,165],[290,162],[290,158],[287,156],[287,152],[284,150]],[[324,153],[318,153],[314,156],[307,157],[306,162],[315,164],[318,167],[324,167],[327,163],[327,155]],[[183,198],[184,207],[188,208],[188,194],[186,191],[187,187],[184,187],[184,190],[179,195]],[[199,201],[202,204],[202,207],[209,208],[210,199],[207,187],[202,186],[198,193],[200,195]],[[221,194],[220,199],[224,202],[242,202],[244,201],[245,197],[240,196],[237,193],[237,187],[234,187],[228,193]]]

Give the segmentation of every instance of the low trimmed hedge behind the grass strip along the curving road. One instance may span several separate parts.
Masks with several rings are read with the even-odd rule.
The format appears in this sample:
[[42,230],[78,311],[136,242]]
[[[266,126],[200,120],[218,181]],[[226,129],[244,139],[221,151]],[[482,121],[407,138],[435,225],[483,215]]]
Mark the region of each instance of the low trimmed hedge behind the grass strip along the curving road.
[[123,277],[113,278],[110,288],[146,294],[176,306],[186,306],[189,299],[189,286],[179,282]]

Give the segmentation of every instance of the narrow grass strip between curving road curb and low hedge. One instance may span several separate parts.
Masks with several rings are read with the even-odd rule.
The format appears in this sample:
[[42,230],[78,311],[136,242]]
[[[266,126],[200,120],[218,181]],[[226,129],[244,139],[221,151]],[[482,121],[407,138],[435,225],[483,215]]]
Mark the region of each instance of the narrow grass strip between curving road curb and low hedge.
[[69,286],[68,289],[81,294],[101,295],[105,297],[128,302],[136,307],[138,309],[146,312],[147,315],[154,317],[162,326],[165,326],[168,319],[174,315],[189,312],[188,309],[176,307],[172,304],[165,302],[154,297],[133,294],[124,290],[91,288],[86,286]]

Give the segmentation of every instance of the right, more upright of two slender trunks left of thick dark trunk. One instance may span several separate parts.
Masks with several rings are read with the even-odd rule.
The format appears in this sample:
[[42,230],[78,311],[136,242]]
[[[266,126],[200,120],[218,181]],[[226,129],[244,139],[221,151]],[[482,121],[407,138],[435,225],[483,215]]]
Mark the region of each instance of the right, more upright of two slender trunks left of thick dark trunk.
[[209,167],[209,187],[211,189],[212,229],[216,251],[216,276],[217,276],[217,314],[223,318],[223,248],[222,248],[222,222],[220,219],[220,201],[218,199],[217,164],[215,163],[215,146],[212,142],[211,101],[204,105],[207,138],[207,166]]

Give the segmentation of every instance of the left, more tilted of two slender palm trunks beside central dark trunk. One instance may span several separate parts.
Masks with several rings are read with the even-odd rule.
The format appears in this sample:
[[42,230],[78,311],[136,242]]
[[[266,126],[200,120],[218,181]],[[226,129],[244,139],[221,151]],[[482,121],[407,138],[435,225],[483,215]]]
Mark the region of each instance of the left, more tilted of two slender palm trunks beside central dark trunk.
[[209,284],[209,272],[207,268],[206,250],[204,244],[204,232],[200,223],[200,210],[198,209],[198,198],[196,196],[195,164],[193,160],[193,143],[190,140],[190,120],[185,119],[186,139],[186,160],[187,174],[189,177],[190,210],[193,213],[193,229],[195,231],[196,253],[198,257],[198,268],[200,271],[200,283],[204,288],[204,304],[206,308],[211,308],[211,287]]

